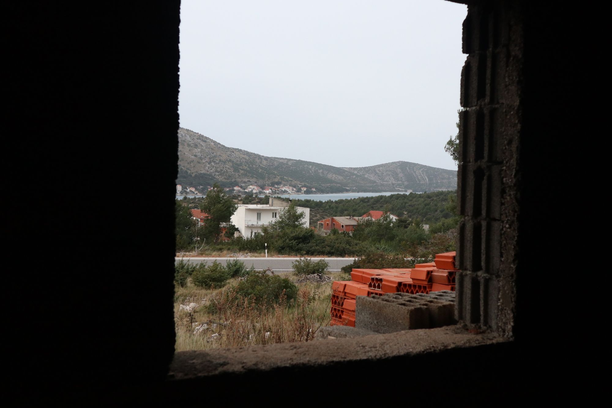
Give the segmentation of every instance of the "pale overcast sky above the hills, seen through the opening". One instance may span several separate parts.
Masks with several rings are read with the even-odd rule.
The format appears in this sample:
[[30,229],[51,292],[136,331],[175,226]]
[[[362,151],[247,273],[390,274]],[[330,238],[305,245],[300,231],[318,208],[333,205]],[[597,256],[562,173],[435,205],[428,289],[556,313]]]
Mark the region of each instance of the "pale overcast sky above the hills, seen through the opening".
[[456,169],[461,23],[444,0],[182,0],[181,126],[265,156]]

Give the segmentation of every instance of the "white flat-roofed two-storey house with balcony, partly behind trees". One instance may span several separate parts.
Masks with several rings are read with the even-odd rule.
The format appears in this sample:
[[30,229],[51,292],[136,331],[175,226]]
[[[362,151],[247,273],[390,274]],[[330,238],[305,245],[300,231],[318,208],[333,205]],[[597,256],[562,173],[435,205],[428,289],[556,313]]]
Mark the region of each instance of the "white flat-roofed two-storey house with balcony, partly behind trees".
[[[269,204],[239,204],[236,212],[231,216],[230,222],[236,225],[242,236],[250,238],[251,233],[261,233],[261,227],[277,221],[280,213],[289,206],[289,203],[278,198],[270,198]],[[304,213],[302,225],[308,227],[310,222],[310,208],[296,207],[297,211]]]

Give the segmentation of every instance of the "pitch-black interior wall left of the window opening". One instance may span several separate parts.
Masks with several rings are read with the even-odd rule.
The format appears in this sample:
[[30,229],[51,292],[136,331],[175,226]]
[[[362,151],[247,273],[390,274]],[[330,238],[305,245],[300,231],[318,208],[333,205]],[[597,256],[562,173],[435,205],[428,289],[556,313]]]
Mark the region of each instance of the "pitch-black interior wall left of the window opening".
[[163,379],[179,1],[12,2],[5,18],[4,289],[10,344],[31,350],[13,379],[37,384],[24,396]]

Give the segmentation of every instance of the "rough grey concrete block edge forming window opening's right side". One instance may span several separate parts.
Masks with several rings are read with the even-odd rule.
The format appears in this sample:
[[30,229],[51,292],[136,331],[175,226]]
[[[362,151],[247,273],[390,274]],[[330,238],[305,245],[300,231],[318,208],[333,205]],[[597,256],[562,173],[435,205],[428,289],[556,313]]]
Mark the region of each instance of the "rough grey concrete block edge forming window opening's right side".
[[522,27],[511,6],[487,4],[468,6],[463,23],[456,317],[504,336],[516,301]]

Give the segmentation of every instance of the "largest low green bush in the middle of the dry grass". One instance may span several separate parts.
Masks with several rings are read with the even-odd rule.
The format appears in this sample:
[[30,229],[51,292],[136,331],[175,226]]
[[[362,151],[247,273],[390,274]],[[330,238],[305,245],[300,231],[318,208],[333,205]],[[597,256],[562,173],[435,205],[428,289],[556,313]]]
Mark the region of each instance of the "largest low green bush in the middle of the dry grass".
[[297,286],[293,282],[263,272],[249,273],[247,279],[236,285],[234,292],[261,306],[278,303],[283,293],[288,302],[297,298]]

